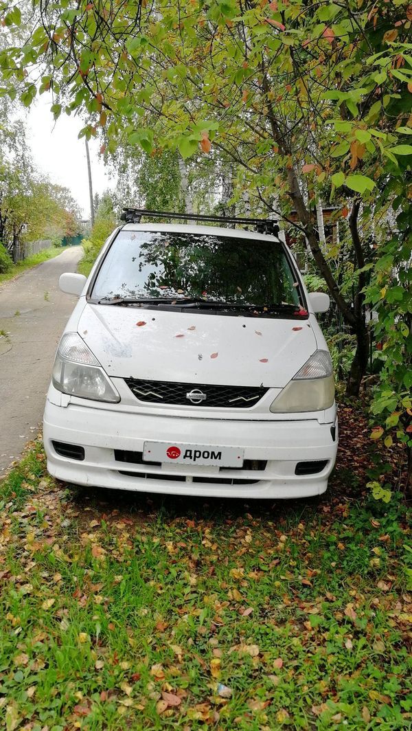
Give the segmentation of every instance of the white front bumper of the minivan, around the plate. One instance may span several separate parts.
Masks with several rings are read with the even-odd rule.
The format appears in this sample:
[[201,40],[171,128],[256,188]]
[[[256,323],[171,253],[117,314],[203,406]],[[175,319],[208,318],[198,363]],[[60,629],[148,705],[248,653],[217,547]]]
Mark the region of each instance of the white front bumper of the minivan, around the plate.
[[[319,424],[312,419],[176,418],[77,404],[62,407],[47,400],[44,439],[50,474],[76,485],[208,497],[299,498],[327,489],[337,452],[337,419]],[[84,447],[84,460],[58,455],[53,441]],[[267,464],[265,469],[239,470],[115,459],[115,450],[142,452],[145,441],[243,447],[245,460]],[[327,463],[317,474],[297,475],[296,465],[302,461]]]

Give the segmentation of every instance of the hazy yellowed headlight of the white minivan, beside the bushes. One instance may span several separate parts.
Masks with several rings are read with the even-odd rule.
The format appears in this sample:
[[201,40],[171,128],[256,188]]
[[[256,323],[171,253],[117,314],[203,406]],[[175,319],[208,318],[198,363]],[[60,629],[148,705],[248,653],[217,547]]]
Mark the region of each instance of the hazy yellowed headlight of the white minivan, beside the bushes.
[[335,401],[332,360],[326,350],[316,350],[270,406],[273,414],[329,409]]

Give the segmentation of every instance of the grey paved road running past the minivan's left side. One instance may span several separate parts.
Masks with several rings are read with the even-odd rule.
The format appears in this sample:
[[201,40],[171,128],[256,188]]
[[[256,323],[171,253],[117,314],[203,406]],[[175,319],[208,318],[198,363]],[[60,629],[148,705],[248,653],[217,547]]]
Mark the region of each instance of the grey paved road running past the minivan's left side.
[[76,301],[58,278],[75,271],[81,255],[73,246],[0,284],[0,477],[42,420],[56,346]]

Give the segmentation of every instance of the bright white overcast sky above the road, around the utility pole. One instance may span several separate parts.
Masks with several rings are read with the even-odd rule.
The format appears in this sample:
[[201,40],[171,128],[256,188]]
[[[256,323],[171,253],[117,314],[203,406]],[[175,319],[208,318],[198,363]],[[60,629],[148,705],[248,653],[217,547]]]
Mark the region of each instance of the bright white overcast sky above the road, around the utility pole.
[[[85,140],[83,137],[77,139],[83,123],[80,118],[64,113],[55,122],[50,113],[51,104],[50,94],[42,94],[27,113],[28,141],[34,162],[49,175],[52,183],[69,188],[83,216],[88,219],[90,205]],[[115,185],[100,159],[99,148],[97,140],[89,142],[94,193],[102,193]]]

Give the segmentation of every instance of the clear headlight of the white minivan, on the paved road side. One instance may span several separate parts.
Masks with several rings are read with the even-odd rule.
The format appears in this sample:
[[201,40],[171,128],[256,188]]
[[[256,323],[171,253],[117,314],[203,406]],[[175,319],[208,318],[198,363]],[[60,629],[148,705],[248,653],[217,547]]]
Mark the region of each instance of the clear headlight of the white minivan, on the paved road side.
[[62,393],[117,404],[120,396],[77,333],[61,338],[53,366],[53,386]]

